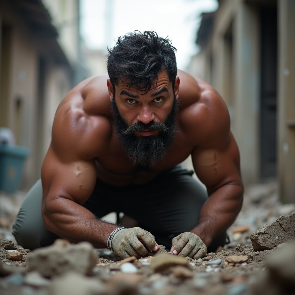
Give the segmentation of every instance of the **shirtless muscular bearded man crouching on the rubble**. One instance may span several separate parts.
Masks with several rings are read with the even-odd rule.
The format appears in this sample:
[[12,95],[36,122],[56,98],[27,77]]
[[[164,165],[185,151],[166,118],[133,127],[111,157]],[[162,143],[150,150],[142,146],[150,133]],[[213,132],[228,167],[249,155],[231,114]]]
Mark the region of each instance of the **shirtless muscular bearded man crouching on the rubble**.
[[[14,224],[20,245],[62,237],[125,258],[163,244],[194,259],[224,245],[242,206],[239,151],[224,101],[177,71],[174,51],[155,32],[127,34],[109,50],[108,76],[88,78],[65,96],[42,184]],[[189,155],[207,191],[179,166]],[[109,212],[137,226],[100,220]]]

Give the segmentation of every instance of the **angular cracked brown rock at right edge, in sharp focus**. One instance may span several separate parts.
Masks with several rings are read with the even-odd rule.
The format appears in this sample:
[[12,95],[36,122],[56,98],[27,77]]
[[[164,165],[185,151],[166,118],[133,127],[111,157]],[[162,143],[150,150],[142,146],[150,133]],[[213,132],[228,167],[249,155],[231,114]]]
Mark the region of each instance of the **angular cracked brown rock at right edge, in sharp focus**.
[[255,251],[270,250],[295,236],[295,212],[279,217],[250,235]]

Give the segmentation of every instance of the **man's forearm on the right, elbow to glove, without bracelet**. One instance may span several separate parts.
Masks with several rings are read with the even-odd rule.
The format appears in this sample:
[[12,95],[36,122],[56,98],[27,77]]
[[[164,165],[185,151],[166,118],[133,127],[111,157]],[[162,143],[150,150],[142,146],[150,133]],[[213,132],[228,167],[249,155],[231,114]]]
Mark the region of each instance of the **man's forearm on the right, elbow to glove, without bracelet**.
[[222,186],[204,203],[199,214],[199,222],[191,232],[198,235],[208,247],[235,221],[242,207],[242,196],[242,186]]

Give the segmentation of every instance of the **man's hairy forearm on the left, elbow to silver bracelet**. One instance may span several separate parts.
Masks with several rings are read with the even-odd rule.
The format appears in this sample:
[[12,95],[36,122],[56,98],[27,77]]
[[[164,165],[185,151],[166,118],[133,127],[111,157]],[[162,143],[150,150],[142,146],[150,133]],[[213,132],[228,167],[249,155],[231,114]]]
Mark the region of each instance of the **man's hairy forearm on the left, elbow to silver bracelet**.
[[106,248],[110,233],[116,224],[96,219],[94,214],[81,205],[59,198],[43,209],[45,227],[70,242],[91,242],[96,248]]

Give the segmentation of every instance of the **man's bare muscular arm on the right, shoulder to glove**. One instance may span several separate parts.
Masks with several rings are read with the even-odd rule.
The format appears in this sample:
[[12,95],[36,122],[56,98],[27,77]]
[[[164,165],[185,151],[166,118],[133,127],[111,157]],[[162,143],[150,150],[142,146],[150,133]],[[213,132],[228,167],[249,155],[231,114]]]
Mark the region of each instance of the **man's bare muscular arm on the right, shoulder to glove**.
[[208,247],[235,220],[242,207],[240,156],[230,132],[230,119],[219,94],[207,91],[200,99],[199,122],[204,130],[192,152],[194,169],[206,185],[209,198],[191,230]]

